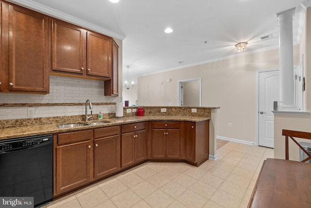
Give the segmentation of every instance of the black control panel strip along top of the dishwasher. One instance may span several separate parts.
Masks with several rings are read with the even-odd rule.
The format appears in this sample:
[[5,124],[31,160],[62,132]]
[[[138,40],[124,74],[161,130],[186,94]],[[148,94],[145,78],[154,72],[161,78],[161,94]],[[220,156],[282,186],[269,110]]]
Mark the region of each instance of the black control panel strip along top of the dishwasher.
[[15,140],[8,140],[5,142],[0,143],[0,151],[1,150],[14,150],[18,148],[23,147],[29,147],[34,145],[39,145],[43,142],[50,141],[52,136],[42,136],[39,138],[25,138],[25,139],[19,139],[18,141]]

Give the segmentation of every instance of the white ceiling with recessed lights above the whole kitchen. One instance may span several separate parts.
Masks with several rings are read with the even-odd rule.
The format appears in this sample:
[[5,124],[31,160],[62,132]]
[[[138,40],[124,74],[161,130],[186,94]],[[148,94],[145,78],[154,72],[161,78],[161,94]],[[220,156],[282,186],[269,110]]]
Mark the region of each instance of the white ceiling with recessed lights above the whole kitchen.
[[[304,0],[10,0],[123,40],[123,80],[182,68],[247,51],[278,47],[276,14],[296,7],[294,43],[300,38]],[[68,18],[66,18],[68,19]],[[299,26],[300,25],[300,26]],[[164,29],[172,27],[173,33]],[[259,37],[272,38],[260,41]],[[207,41],[207,43],[205,43]],[[182,61],[183,63],[178,63]]]

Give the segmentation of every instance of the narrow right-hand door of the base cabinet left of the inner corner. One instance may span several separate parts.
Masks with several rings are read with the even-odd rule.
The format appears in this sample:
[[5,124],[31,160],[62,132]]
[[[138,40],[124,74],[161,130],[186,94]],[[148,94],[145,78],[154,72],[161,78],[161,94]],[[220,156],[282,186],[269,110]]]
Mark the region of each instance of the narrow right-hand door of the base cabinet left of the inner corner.
[[146,130],[135,132],[135,163],[146,159]]

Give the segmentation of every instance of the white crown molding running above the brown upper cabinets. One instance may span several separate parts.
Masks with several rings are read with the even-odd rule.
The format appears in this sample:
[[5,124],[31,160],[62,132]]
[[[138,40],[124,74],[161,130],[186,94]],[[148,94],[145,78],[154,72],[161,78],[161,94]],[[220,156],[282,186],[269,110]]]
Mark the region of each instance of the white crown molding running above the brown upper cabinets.
[[99,26],[97,26],[95,24],[92,24],[92,23],[90,23],[88,21],[85,21],[83,19],[79,19],[79,18],[73,17],[73,16],[71,16],[69,14],[66,14],[64,12],[58,11],[56,9],[52,9],[51,7],[48,7],[48,6],[45,6],[43,4],[37,3],[37,2],[35,2],[33,0],[8,0],[8,1],[12,2],[12,3],[16,3],[16,4],[21,5],[21,6],[25,6],[25,7],[30,8],[30,9],[35,9],[38,12],[43,12],[43,13],[45,13],[47,15],[52,16],[52,17],[69,21],[69,22],[71,22],[73,24],[80,25],[80,26],[85,27],[85,28],[87,28],[89,30],[93,30],[95,32],[98,32],[98,33],[101,33],[101,34],[104,34],[104,35],[107,35],[107,36],[110,36],[110,37],[113,37],[113,38],[118,38],[118,39],[121,39],[121,40],[123,40],[125,38],[124,35],[112,32],[112,31],[107,30],[107,29],[105,29],[103,27],[99,27]]

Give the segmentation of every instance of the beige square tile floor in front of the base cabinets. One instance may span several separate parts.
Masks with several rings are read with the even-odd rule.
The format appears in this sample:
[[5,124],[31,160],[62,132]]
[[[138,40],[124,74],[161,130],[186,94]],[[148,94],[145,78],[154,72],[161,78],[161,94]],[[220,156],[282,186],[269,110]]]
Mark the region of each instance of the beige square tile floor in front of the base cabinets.
[[46,208],[246,208],[273,149],[228,142],[199,168],[148,162],[55,200]]

